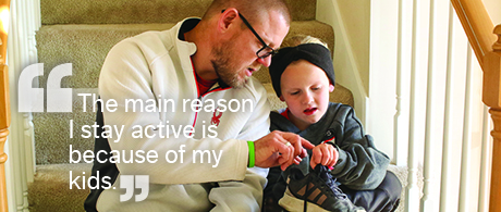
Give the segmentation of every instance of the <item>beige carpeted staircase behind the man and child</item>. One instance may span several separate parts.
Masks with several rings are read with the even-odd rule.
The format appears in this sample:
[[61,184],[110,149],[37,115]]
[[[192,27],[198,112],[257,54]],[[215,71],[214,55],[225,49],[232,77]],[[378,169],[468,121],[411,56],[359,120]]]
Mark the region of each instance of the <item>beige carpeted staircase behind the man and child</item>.
[[[73,75],[62,87],[73,88],[72,113],[34,113],[37,173],[28,187],[29,210],[84,211],[88,188],[82,188],[91,164],[70,164],[70,145],[80,152],[93,150],[94,139],[80,137],[82,125],[91,125],[93,102],[84,105],[77,93],[95,93],[101,64],[118,41],[146,30],[164,30],[187,16],[201,16],[211,0],[41,0],[42,26],[36,34],[38,61],[45,63],[45,77],[57,65],[72,63]],[[304,34],[319,37],[334,47],[332,27],[315,21],[316,0],[289,0],[293,22],[289,36]],[[288,37],[289,37],[288,36]],[[40,85],[45,87],[45,77]],[[255,74],[269,92],[273,110],[284,104],[274,96],[268,70]],[[331,101],[353,105],[350,90],[335,86]],[[87,112],[83,112],[83,108]],[[90,112],[89,112],[90,111]],[[70,138],[70,120],[74,138]],[[72,178],[80,177],[80,188],[70,189]],[[85,174],[84,174],[85,172]]]

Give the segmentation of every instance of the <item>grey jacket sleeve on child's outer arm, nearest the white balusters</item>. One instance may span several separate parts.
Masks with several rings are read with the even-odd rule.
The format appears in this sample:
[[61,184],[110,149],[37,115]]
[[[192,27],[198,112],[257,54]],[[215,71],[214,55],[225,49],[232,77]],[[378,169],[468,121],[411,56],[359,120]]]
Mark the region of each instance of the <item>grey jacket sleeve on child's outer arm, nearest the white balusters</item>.
[[342,105],[337,114],[335,144],[339,160],[332,171],[338,180],[356,190],[375,189],[386,175],[390,159],[365,135],[353,108]]

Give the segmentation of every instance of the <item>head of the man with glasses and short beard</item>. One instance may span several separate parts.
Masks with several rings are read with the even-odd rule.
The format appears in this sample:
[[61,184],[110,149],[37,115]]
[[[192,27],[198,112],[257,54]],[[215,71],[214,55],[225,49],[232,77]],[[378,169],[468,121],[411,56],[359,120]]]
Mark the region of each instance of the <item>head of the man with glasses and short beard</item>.
[[209,57],[213,77],[239,88],[261,65],[270,65],[291,17],[283,0],[215,0],[203,21],[217,27]]

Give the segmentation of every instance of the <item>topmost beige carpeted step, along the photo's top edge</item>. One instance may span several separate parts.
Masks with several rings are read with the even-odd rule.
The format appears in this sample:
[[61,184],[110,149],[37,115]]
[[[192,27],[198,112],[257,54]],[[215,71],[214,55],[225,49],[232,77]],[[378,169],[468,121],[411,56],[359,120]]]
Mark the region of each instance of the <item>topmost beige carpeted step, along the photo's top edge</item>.
[[[211,0],[40,0],[41,23],[139,24],[176,23],[201,16]],[[315,20],[316,0],[286,0],[294,21]]]

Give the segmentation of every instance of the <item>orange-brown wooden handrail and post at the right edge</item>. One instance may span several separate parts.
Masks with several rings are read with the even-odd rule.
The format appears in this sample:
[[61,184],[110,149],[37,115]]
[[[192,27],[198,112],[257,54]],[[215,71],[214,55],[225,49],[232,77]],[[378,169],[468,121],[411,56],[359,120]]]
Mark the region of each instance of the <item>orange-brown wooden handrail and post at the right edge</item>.
[[482,101],[494,125],[489,211],[501,211],[501,24],[493,26],[481,0],[451,2],[484,71]]

